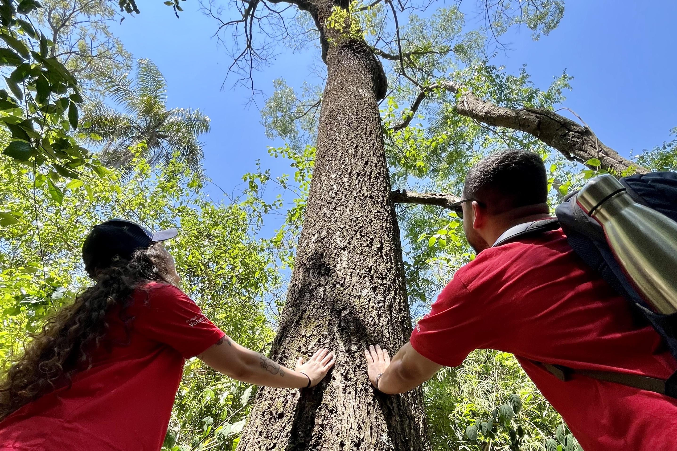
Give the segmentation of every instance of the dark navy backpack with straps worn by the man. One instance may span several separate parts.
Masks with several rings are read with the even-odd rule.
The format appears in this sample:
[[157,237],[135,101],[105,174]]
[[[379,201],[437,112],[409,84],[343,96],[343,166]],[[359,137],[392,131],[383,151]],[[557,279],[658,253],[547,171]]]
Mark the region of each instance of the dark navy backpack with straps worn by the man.
[[[677,172],[651,172],[624,177],[619,180],[634,201],[653,208],[677,221]],[[494,246],[508,241],[516,241],[527,235],[536,235],[544,231],[562,227],[569,245],[586,264],[596,270],[615,291],[623,295],[635,313],[638,321],[650,323],[663,337],[670,353],[677,359],[677,313],[658,314],[653,312],[649,304],[634,289],[621,266],[616,261],[600,224],[588,216],[576,203],[575,193],[569,193],[555,209],[557,219],[546,219],[527,224],[519,224],[501,235]],[[675,237],[677,239],[677,237]],[[677,275],[675,275],[677,277]],[[571,373],[588,375],[596,379],[631,385],[641,389],[649,389],[677,398],[677,373],[667,381],[610,373],[606,371],[583,371],[562,366],[544,364],[546,369],[566,380]]]

